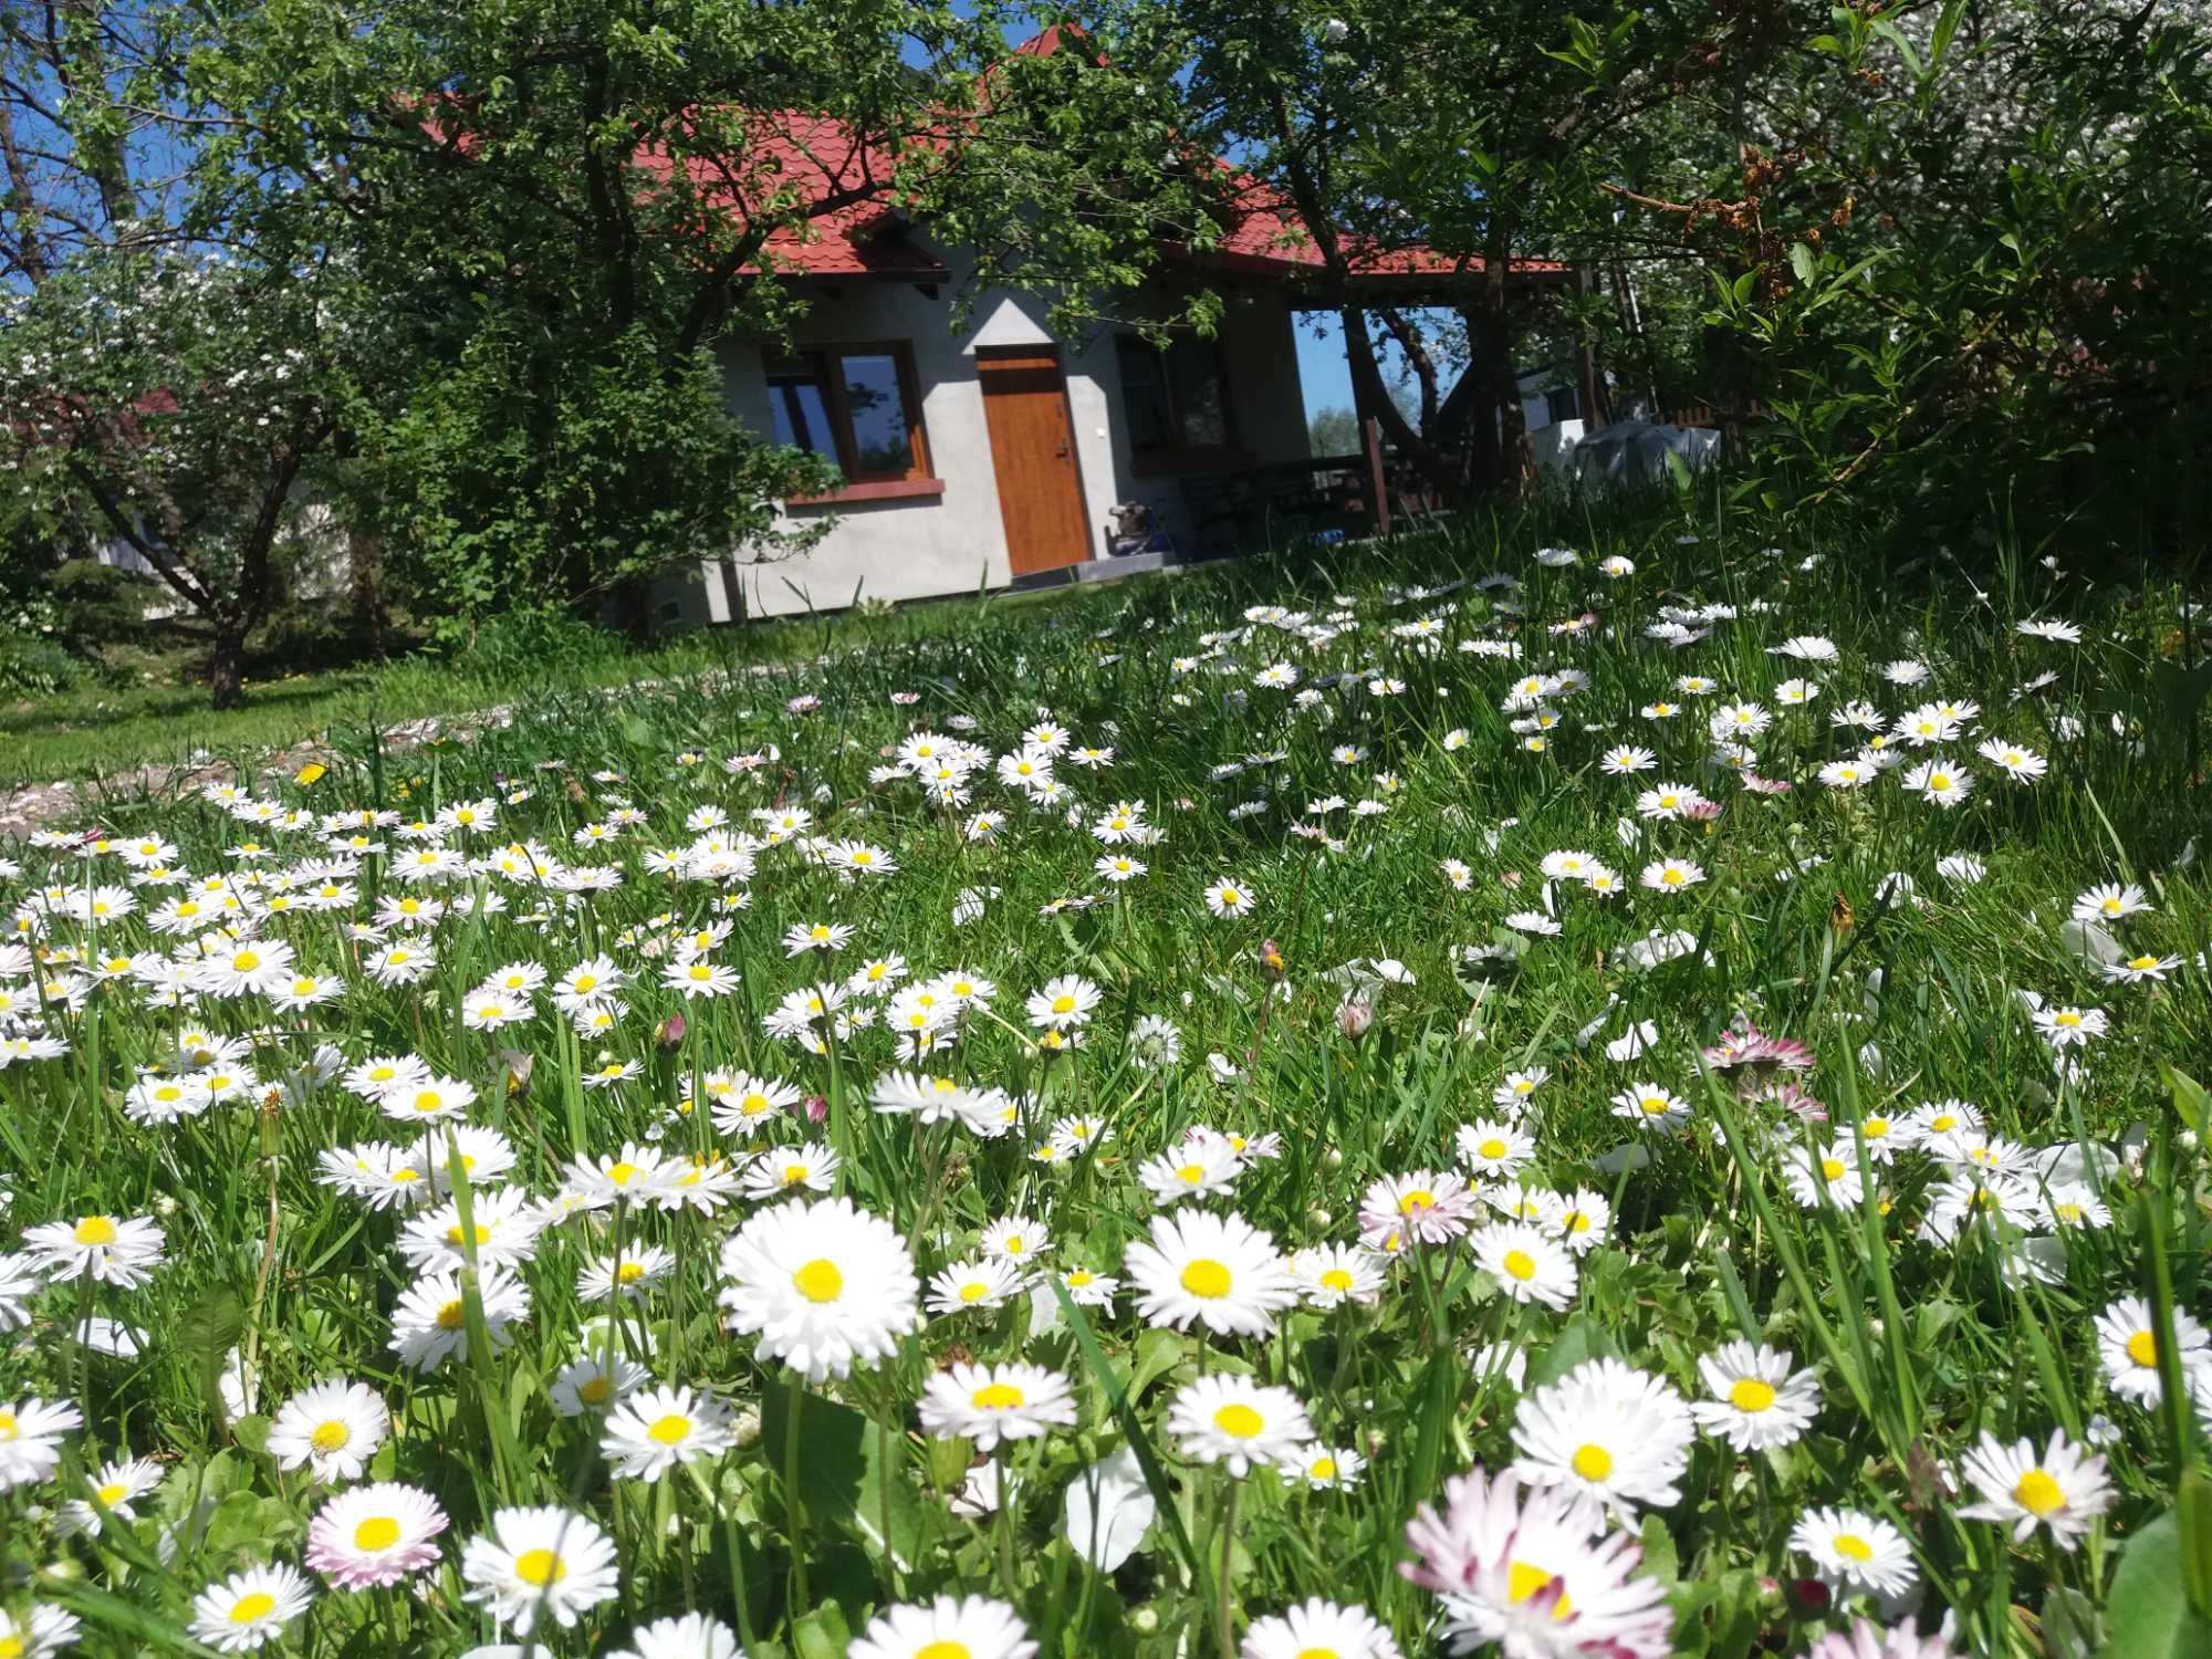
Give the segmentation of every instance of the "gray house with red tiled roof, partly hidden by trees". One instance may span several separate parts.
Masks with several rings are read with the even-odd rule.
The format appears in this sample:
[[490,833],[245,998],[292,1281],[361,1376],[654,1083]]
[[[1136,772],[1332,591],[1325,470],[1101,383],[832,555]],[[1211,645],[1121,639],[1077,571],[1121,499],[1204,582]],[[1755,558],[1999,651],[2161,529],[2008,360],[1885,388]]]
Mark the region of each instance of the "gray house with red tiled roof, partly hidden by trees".
[[[664,577],[661,626],[1064,580],[1110,557],[1108,518],[1124,502],[1148,509],[1179,557],[1281,544],[1343,504],[1301,469],[1296,314],[1314,303],[1321,257],[1256,184],[1239,181],[1212,250],[1164,250],[1135,303],[1117,301],[1168,319],[1179,290],[1203,281],[1225,301],[1208,338],[1155,345],[1124,325],[1055,338],[1046,301],[1006,290],[975,296],[956,332],[951,294],[973,254],[856,190],[889,173],[880,157],[799,113],[759,131],[785,181],[821,201],[863,199],[770,239],[765,272],[801,288],[807,307],[787,349],[721,347],[728,400],[757,431],[834,460],[845,484],[781,504],[785,526],[830,520],[807,551],[737,551],[706,560],[697,580]],[[1480,261],[1416,248],[1374,257],[1360,281],[1378,303],[1420,303],[1478,272]]]

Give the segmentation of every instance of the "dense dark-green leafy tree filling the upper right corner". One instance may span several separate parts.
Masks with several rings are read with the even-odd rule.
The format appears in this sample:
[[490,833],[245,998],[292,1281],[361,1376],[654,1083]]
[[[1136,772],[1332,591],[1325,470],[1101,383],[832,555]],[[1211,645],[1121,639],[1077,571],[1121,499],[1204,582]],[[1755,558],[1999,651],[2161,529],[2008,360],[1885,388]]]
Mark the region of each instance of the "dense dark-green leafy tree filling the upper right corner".
[[[2212,4],[1776,4],[1597,199],[1703,268],[1714,400],[1778,507],[2099,553],[2205,520]],[[1577,42],[1593,84],[1632,38]]]

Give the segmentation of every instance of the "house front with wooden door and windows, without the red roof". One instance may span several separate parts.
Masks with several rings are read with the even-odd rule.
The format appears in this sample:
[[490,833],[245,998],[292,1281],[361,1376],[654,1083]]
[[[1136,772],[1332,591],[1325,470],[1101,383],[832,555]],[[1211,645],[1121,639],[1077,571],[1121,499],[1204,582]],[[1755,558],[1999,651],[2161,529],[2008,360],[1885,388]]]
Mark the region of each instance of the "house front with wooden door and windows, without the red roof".
[[[821,248],[821,243],[816,243]],[[1294,305],[1237,281],[1212,338],[1155,347],[1133,327],[1055,338],[1033,294],[991,292],[947,327],[958,248],[916,234],[891,270],[810,250],[812,305],[790,352],[723,347],[737,414],[834,460],[845,487],[785,502],[834,515],[799,557],[719,560],[666,582],[664,622],[730,622],[1000,588],[1106,557],[1108,513],[1141,502],[1179,553],[1232,551],[1223,473],[1307,458]],[[929,261],[922,268],[918,261]],[[1166,292],[1152,296],[1161,312]]]

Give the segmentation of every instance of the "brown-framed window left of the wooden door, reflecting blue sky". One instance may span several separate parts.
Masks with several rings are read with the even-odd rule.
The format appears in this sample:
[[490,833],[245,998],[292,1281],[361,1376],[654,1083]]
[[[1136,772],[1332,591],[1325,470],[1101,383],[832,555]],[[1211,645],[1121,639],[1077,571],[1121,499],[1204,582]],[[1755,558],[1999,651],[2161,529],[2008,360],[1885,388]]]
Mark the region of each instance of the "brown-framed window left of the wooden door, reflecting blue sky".
[[929,438],[905,341],[816,345],[768,365],[774,438],[834,460],[852,484],[929,480]]

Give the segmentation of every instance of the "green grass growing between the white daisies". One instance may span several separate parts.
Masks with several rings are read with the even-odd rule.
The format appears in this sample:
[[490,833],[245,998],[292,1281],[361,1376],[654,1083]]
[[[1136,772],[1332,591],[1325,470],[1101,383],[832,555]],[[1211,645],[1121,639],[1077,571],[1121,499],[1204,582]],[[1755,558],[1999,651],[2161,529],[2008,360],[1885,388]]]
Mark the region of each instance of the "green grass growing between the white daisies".
[[[51,956],[13,989],[31,1009],[13,1018],[69,1048],[0,1066],[0,1186],[11,1190],[0,1250],[49,1223],[153,1217],[166,1259],[137,1287],[60,1279],[18,1296],[29,1325],[0,1354],[0,1409],[66,1398],[86,1425],[64,1438],[58,1471],[0,1493],[0,1604],[77,1613],[93,1655],[197,1650],[181,1635],[192,1595],[250,1564],[299,1566],[305,1528],[332,1498],[272,1455],[283,1402],[319,1380],[356,1380],[394,1413],[367,1473],[429,1493],[451,1528],[414,1593],[327,1590],[292,1617],[294,1652],[449,1659],[518,1639],[467,1599],[462,1546],[502,1509],[551,1504],[604,1531],[619,1568],[573,1630],[542,1632],[564,1657],[637,1648],[633,1630],[686,1608],[730,1626],[750,1652],[841,1655],[887,1606],[938,1595],[1009,1604],[1053,1659],[1237,1659],[1248,1639],[1263,1659],[1298,1655],[1316,1639],[1270,1646],[1259,1621],[1307,1597],[1360,1606],[1400,1652],[1433,1655],[1447,1646],[1447,1608],[1400,1573],[1418,1509],[1464,1498],[1447,1484],[1462,1471],[1504,1471],[1540,1396],[1604,1376],[1588,1369],[1597,1363],[1630,1367],[1659,1405],[1635,1422],[1610,1420],[1601,1402],[1571,1405],[1566,1440],[1535,1455],[1559,1471],[1595,1444],[1632,1467],[1666,1447],[1686,1400],[1714,1398],[1701,1360],[1741,1340],[1785,1352],[1776,1376],[1803,1374],[1809,1416],[1796,1433],[1750,1453],[1697,1436],[1621,1498],[1610,1566],[1557,1531],[1524,1531],[1517,1553],[1473,1564],[1471,1593],[1500,1619],[1533,1617],[1553,1641],[1595,1641],[1608,1573],[1632,1568],[1661,1613],[1615,1630],[1630,1652],[1801,1655],[1854,1619],[1933,1637],[1944,1617],[1947,1652],[2201,1652],[2212,1626],[2192,1586],[2212,1537],[2199,1520],[2203,1409],[2185,1398],[2188,1356],[2161,1340],[2150,1387],[2157,1367],[2110,1365],[2095,1327],[2126,1296],[2141,1296],[2161,1332],[2208,1312],[2197,1139],[2208,1126],[2188,1082],[2212,1053],[2201,958],[2212,902],[2194,852],[2203,708],[2190,699],[2201,613],[2185,624],[2183,595],[2157,584],[2099,591],[2011,562],[1969,584],[1885,568],[1849,542],[1772,555],[1770,540],[1725,520],[1577,533],[1506,520],[1482,538],[1279,557],[1055,604],[902,613],[905,633],[869,637],[867,650],[836,650],[849,639],[841,624],[805,624],[785,635],[801,666],[774,679],[664,670],[608,697],[588,677],[540,675],[511,699],[513,723],[409,752],[332,717],[327,776],[305,787],[246,776],[241,787],[310,821],[383,810],[398,825],[491,796],[495,830],[467,841],[489,863],[411,885],[400,869],[425,843],[392,827],[378,832],[385,852],[334,876],[316,863],[330,854],[312,823],[243,823],[197,794],[111,814],[119,836],[173,838],[195,878],[228,876],[204,891],[195,883],[204,916],[184,931],[153,931],[155,909],[186,891],[159,885],[128,889],[133,914],[71,918],[86,869],[93,883],[128,880],[122,852],[91,863],[75,849],[29,852],[7,896]],[[1579,564],[1544,566],[1535,549],[1546,542],[1575,546]],[[1599,575],[1608,553],[1632,557],[1635,573]],[[1520,580],[1517,613],[1475,582],[1489,571]],[[1265,611],[1248,619],[1256,606],[1303,613],[1329,637],[1285,630]],[[1730,606],[1734,617],[1677,648],[1646,635],[1661,606]],[[2042,617],[2077,622],[2081,644],[2015,630]],[[1405,628],[1420,619],[1433,622],[1433,644]],[[1772,655],[1792,635],[1832,639],[1838,659]],[[1460,641],[1517,644],[1522,657]],[[807,666],[825,650],[825,666]],[[666,664],[714,666],[677,653]],[[1924,686],[1885,677],[1902,657],[1927,664]],[[1298,670],[1298,690],[1256,681],[1279,661]],[[1588,686],[1555,692],[1559,719],[1531,748],[1502,701],[1546,666],[1575,668]],[[1717,688],[1683,695],[1681,675]],[[1820,681],[1809,708],[1778,701],[1794,677]],[[1305,706],[1298,692],[1312,692]],[[1829,712],[1860,697],[1889,717],[1973,699],[1975,730],[1940,750],[1975,776],[1969,799],[1933,805],[1902,785],[1902,768],[1867,790],[1823,785],[1818,768],[1858,743]],[[1708,765],[1705,717],[1734,699],[1774,714],[1750,776],[1787,792]],[[1659,701],[1690,712],[1639,714]],[[885,776],[914,732],[956,737],[973,721],[967,737],[1009,757],[1042,719],[1077,745],[1110,745],[1113,765],[1062,759],[1066,799],[1053,801],[984,770],[958,810],[931,805],[914,776]],[[1975,754],[1989,734],[2046,757],[2048,776],[2008,783]],[[1599,761],[1621,743],[1655,750],[1657,768],[1606,774]],[[1699,785],[1719,812],[1639,821],[1639,790],[1661,779]],[[1093,834],[1124,801],[1141,803],[1157,843],[1110,847]],[[748,874],[717,883],[655,856],[719,834],[686,827],[701,807],[774,836]],[[619,825],[628,810],[635,821]],[[792,812],[812,818],[776,830]],[[980,812],[1002,821],[984,832]],[[816,834],[867,843],[898,869],[845,878],[810,854]],[[447,838],[462,845],[460,830]],[[613,878],[568,891],[509,843]],[[1095,863],[1115,852],[1146,872],[1104,880]],[[1599,898],[1562,878],[1546,898],[1544,860],[1564,852],[1613,865],[1626,891]],[[1705,878],[1679,891],[1639,885],[1666,858],[1694,860]],[[1947,874],[1953,858],[1978,860],[1982,878]],[[1453,860],[1464,887],[1447,878]],[[312,869],[305,896],[325,880],[349,891],[312,909],[272,889],[274,872],[301,865]],[[1208,911],[1223,880],[1252,896],[1250,914]],[[60,898],[40,898],[49,883]],[[2177,958],[2168,978],[2117,984],[2084,956],[2097,938],[2070,929],[2068,911],[2097,883],[2141,885],[2148,909],[2106,933],[2128,953]],[[241,894],[239,911],[226,911],[223,891]],[[434,922],[354,931],[380,900],[409,894],[453,907]],[[504,902],[476,905],[487,894]],[[1531,931],[1546,911],[1555,936]],[[854,933],[838,953],[787,953],[785,931],[816,922]],[[684,1000],[664,975],[686,940],[721,925],[728,938],[706,956],[737,982]],[[290,945],[343,993],[285,1009],[265,991],[208,989],[161,1006],[144,980],[73,982],[71,951],[84,962],[184,956],[201,949],[195,938],[215,962],[241,940]],[[1652,938],[1674,945],[1652,951]],[[378,984],[380,953],[398,940],[427,942],[436,967],[416,984]],[[599,953],[635,984],[584,1033],[555,1013],[551,984],[487,987],[518,964],[557,980]],[[993,980],[995,995],[964,1009],[922,1062],[898,1053],[894,1015],[907,1004],[867,993],[847,1011],[876,1018],[814,1048],[776,1035],[787,998],[891,953],[909,982],[958,969]],[[1097,991],[1079,1046],[1040,1042],[1026,1011],[1057,975]],[[2022,993],[2099,1009],[2108,1029],[2062,1068]],[[487,998],[526,1000],[529,1015],[476,1029]],[[1177,1055],[1161,1060],[1159,1026],[1139,1022],[1170,1024]],[[1745,1022],[1803,1044],[1809,1071],[1763,1088],[1756,1073],[1701,1057]],[[250,1066],[254,1084],[206,1113],[148,1121],[148,1091],[206,1079],[221,1040],[234,1048],[217,1068]],[[823,1287],[821,1261],[843,1263],[841,1296],[845,1285],[887,1290],[894,1274],[856,1254],[860,1223],[814,1232],[759,1276],[728,1265],[723,1243],[741,1228],[754,1237],[763,1203],[703,1214],[624,1201],[549,1219],[518,1267],[531,1305],[509,1345],[484,1340],[495,1296],[460,1285],[453,1318],[473,1338],[469,1356],[411,1369],[392,1349],[396,1307],[416,1283],[398,1248],[407,1210],[369,1208],[323,1179],[325,1155],[343,1172],[347,1148],[376,1141],[414,1148],[387,1168],[420,1175],[442,1157],[436,1139],[416,1146],[405,1099],[387,1117],[330,1071],[369,1055],[416,1055],[471,1084],[467,1124],[502,1137],[478,1141],[478,1159],[513,1159],[504,1172],[478,1164],[456,1194],[467,1212],[438,1214],[427,1250],[445,1225],[458,1250],[478,1250],[471,1230],[507,1203],[500,1190],[553,1199],[577,1159],[719,1168],[783,1148],[770,1172],[834,1155],[823,1186],[880,1219],[925,1285],[964,1274],[995,1221],[1022,1219],[1031,1254],[1046,1237],[1053,1270],[1119,1274],[1124,1292],[1077,1307],[1029,1285],[916,1321],[849,1376],[832,1365],[803,1383],[772,1340],[732,1332],[717,1296],[757,1279],[796,1307],[801,1290]],[[987,1106],[973,1124],[874,1110],[880,1079],[914,1064],[1004,1091],[1011,1133],[995,1133],[1004,1121]],[[1509,1073],[1537,1068],[1548,1075],[1524,1106],[1493,1104],[1502,1088],[1511,1099]],[[821,1121],[794,1108],[748,1137],[686,1108],[712,1073],[737,1071],[818,1097]],[[1679,1133],[1615,1113],[1615,1097],[1641,1084],[1679,1095]],[[1951,1099],[1978,1106],[2002,1139],[1885,1159],[1898,1126]],[[1068,1124],[1113,1137],[1040,1159]],[[1223,1190],[1164,1210],[1139,1172],[1166,1159],[1172,1186],[1183,1166],[1217,1157],[1190,1144],[1197,1126],[1248,1146],[1274,1139],[1267,1157],[1232,1164]],[[1473,1130],[1467,1148],[1462,1128]],[[1491,1139],[1506,1150],[1489,1152]],[[1975,1175],[1978,1146],[2024,1175]],[[1535,1241],[1493,1232],[1502,1214],[1478,1210],[1464,1237],[1369,1261],[1371,1305],[1305,1296],[1252,1334],[1139,1310],[1130,1281],[1144,1267],[1130,1248],[1161,1214],[1234,1212],[1283,1252],[1349,1248],[1363,1206],[1380,1206],[1383,1239],[1398,1228],[1387,1217],[1407,1214],[1405,1192],[1449,1199],[1442,1175],[1462,1155],[1517,1159],[1515,1179],[1555,1194]],[[1504,1201],[1500,1177],[1460,1175]],[[1878,1201],[1823,1197],[1854,1183]],[[1975,1190],[1995,1190],[2002,1212],[1969,1208],[1947,1225]],[[2057,1203],[2106,1221],[2066,1225]],[[1571,1230],[1573,1214],[1593,1221],[1590,1234]],[[1557,1307],[1515,1301],[1504,1245],[1551,1259],[1593,1234]],[[577,1276],[641,1248],[666,1252],[661,1276],[591,1352],[604,1363],[611,1340],[655,1385],[714,1391],[739,1427],[734,1447],[661,1480],[619,1475],[599,1422],[553,1402],[595,1312]],[[1250,1283],[1261,1270],[1237,1272]],[[142,1329],[144,1352],[86,1352],[73,1334],[84,1310]],[[995,1458],[922,1429],[918,1405],[947,1367],[1015,1360],[1068,1383],[1071,1425]],[[252,1398],[226,1400],[223,1378],[241,1365]],[[1314,1447],[1365,1458],[1356,1480],[1316,1489],[1303,1460],[1230,1480],[1194,1455],[1177,1405],[1248,1385],[1296,1396]],[[1279,1396],[1256,1405],[1283,1407]],[[2095,1440],[2110,1482],[2093,1502],[2088,1486],[2075,1491],[2095,1513],[2064,1542],[2033,1528],[2015,1544],[1962,1513],[1982,1495],[1964,1460],[1984,1436],[2028,1440],[2042,1458],[2055,1431]],[[1121,1566],[1095,1573],[1064,1506],[1084,1471],[1124,1447],[1139,1473],[1119,1502],[1148,1498],[1155,1515]],[[62,1504],[84,1493],[86,1471],[128,1455],[157,1464],[135,1520],[97,1540],[71,1535]],[[995,1513],[956,1502],[984,1469],[1011,1480],[1013,1500]],[[1856,1513],[1845,1531],[1898,1528],[1909,1606],[1816,1593],[1816,1562],[1792,1531],[1825,1506]],[[1568,1604],[1531,1599],[1542,1584],[1531,1573],[1564,1573]],[[998,1652],[975,1630],[962,1639]],[[914,1637],[894,1650],[927,1648]]]

